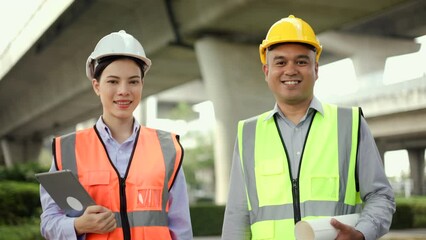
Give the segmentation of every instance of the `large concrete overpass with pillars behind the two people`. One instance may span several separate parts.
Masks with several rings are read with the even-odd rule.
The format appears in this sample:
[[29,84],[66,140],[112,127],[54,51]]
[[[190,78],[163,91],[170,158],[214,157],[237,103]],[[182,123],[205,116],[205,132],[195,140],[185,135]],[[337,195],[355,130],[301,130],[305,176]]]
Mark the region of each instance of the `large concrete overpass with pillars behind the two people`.
[[258,44],[273,22],[294,14],[319,34],[321,65],[353,59],[362,87],[331,100],[364,108],[382,152],[413,149],[416,191],[424,193],[425,78],[387,87],[381,77],[387,57],[419,50],[414,38],[426,34],[425,13],[423,0],[76,0],[22,56],[12,50],[24,36],[0,56],[0,160],[31,159],[46,136],[101,114],[84,64],[100,37],[125,29],[153,61],[144,97],[203,82],[218,122],[216,185],[223,202],[237,120],[273,104]]

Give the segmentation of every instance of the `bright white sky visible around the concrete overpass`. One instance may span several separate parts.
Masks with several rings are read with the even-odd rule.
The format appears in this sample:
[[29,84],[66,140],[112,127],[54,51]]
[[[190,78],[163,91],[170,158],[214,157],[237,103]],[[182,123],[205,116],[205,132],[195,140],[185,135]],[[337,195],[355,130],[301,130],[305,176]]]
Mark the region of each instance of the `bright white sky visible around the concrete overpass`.
[[[6,53],[6,50],[10,47],[9,43],[12,41],[23,41],[26,44],[31,40],[35,41],[38,35],[42,34],[58,14],[72,2],[73,0],[0,0],[0,58]],[[28,32],[28,29],[31,29],[31,32]],[[19,36],[21,38],[23,36],[24,39],[19,39]],[[426,43],[426,37],[420,37],[417,41]],[[415,65],[426,62],[426,47],[424,45],[417,53],[388,58],[384,82],[393,84],[426,74],[424,67]],[[20,51],[18,53],[9,52],[8,54],[16,54],[16,58],[19,58],[19,55],[25,52],[25,47],[28,46],[19,47],[16,50]],[[9,48],[9,50],[14,49]],[[401,69],[411,69],[411,71],[400,71]],[[400,76],[400,72],[405,74],[404,77]],[[411,75],[407,76],[407,72]],[[347,79],[347,81],[343,83],[338,80],[342,78]],[[320,79],[323,80],[317,81],[316,92],[321,92],[324,95],[350,94],[356,91],[358,87],[355,70],[349,58],[321,66]],[[336,91],[336,89],[340,90]],[[388,176],[407,174],[408,166],[408,155],[405,150],[385,154],[385,169]]]

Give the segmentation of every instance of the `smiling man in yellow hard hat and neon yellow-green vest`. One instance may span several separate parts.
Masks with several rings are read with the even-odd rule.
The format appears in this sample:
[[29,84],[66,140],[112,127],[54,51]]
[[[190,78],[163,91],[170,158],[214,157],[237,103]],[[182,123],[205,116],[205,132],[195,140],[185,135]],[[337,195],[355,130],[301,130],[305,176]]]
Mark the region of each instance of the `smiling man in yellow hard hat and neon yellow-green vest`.
[[394,195],[359,108],[313,94],[322,47],[290,15],[259,47],[272,111],[240,121],[222,239],[295,239],[295,223],[360,213],[354,227],[332,219],[336,239],[378,239],[389,230]]

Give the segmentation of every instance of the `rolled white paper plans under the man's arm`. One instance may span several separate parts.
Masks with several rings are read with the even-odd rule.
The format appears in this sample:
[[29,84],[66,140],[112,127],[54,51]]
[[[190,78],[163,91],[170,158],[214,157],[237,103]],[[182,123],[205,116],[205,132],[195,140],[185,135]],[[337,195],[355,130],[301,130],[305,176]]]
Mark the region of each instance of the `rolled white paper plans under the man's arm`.
[[337,229],[331,226],[330,221],[334,218],[339,222],[352,227],[358,221],[359,214],[348,214],[326,218],[316,218],[311,220],[299,221],[296,223],[294,233],[297,240],[330,240],[337,236]]

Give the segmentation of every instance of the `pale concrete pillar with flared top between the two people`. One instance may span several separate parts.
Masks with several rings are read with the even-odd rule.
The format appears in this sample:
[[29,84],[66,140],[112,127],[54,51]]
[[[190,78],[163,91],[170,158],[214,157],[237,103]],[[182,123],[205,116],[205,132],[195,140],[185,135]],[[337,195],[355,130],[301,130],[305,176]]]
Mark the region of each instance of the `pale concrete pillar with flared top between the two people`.
[[264,81],[256,46],[208,37],[196,42],[195,51],[215,110],[215,201],[224,204],[238,120],[272,109],[275,101]]

